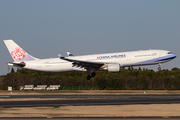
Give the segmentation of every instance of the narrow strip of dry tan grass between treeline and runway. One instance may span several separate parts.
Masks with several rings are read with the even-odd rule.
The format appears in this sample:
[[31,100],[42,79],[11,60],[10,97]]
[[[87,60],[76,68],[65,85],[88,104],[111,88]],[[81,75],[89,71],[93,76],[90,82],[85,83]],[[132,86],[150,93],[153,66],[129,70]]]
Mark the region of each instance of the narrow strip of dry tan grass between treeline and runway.
[[48,94],[180,94],[180,90],[42,90],[20,91],[13,90],[12,94],[7,90],[0,90],[0,95],[48,95]]

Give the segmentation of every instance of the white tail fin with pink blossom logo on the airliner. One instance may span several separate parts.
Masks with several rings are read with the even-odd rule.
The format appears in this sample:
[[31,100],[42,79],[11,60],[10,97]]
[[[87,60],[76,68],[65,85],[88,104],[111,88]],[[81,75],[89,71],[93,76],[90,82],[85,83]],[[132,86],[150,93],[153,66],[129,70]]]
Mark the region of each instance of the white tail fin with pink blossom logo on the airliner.
[[26,51],[24,51],[21,47],[19,47],[13,40],[4,40],[4,43],[15,62],[38,60],[37,58],[29,55]]

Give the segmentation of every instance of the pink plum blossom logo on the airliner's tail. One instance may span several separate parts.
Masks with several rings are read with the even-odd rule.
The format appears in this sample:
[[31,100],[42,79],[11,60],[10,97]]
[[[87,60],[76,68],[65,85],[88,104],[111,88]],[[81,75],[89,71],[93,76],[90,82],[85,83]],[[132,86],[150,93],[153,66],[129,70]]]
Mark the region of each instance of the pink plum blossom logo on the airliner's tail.
[[11,55],[15,60],[22,60],[25,57],[25,51],[19,47],[15,48],[14,51],[11,52]]

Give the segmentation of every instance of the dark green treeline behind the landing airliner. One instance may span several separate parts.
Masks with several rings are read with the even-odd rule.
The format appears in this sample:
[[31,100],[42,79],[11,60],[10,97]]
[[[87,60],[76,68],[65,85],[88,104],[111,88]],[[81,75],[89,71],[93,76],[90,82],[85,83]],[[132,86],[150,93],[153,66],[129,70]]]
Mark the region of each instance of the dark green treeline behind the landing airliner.
[[180,69],[153,71],[148,69],[121,69],[117,73],[96,71],[96,76],[87,80],[89,72],[47,73],[26,69],[0,77],[0,89],[8,86],[19,89],[21,85],[87,86],[100,90],[179,90]]

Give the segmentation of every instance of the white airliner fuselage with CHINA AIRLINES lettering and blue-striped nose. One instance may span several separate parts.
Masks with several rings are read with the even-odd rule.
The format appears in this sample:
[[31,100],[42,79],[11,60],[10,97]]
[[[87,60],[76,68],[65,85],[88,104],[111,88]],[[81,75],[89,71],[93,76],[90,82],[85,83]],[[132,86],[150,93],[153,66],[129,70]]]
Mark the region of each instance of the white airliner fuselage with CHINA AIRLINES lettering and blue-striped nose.
[[[70,56],[76,60],[102,62],[104,64],[119,64],[120,67],[153,65],[168,62],[176,55],[167,50],[142,50],[131,52],[116,52],[94,55]],[[60,58],[26,61],[25,69],[44,72],[88,71],[86,68],[73,66],[72,62]],[[96,69],[96,70],[101,70]]]

